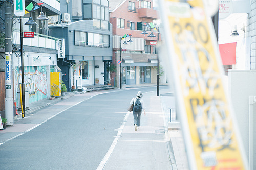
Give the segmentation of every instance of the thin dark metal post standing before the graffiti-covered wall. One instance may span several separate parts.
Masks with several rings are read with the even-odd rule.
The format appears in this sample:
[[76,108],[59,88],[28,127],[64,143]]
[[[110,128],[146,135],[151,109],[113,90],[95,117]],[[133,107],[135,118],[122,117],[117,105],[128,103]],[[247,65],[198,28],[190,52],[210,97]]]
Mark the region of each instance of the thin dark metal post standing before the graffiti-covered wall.
[[25,117],[25,85],[24,85],[24,61],[23,61],[23,27],[22,27],[22,16],[19,17],[19,27],[20,27],[20,60],[22,62],[22,103],[23,103],[23,115],[22,118]]

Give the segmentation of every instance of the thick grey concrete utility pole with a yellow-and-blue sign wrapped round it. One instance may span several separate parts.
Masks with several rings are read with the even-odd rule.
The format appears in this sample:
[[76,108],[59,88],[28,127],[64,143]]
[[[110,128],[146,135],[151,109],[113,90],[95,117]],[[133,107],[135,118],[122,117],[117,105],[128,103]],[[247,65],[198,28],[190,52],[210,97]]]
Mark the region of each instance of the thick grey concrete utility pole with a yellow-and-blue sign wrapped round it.
[[11,1],[5,1],[5,117],[7,125],[13,125],[13,83],[12,83],[12,14]]

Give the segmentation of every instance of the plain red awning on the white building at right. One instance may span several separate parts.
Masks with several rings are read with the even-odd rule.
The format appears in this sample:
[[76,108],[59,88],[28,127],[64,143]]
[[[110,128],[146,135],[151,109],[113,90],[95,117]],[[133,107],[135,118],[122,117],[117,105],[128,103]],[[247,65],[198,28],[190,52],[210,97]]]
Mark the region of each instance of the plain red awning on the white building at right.
[[237,42],[219,45],[219,50],[220,50],[223,65],[237,64],[236,47],[237,47]]

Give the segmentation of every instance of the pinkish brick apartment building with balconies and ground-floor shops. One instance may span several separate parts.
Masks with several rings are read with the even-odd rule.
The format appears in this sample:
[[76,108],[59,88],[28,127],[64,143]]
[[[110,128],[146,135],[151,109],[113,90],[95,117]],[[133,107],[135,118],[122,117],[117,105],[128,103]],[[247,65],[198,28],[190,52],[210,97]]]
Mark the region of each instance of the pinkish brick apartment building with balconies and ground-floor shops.
[[[113,63],[117,66],[116,83],[120,87],[120,60],[122,62],[122,84],[133,85],[157,82],[157,31],[156,37],[148,37],[151,29],[147,23],[159,19],[157,10],[153,8],[153,1],[112,0],[109,2],[110,22],[113,25]],[[149,34],[143,35],[145,29]],[[120,39],[125,34],[130,37],[121,41],[122,57],[120,59]],[[124,45],[124,41],[133,42]],[[159,40],[160,40],[159,36]]]

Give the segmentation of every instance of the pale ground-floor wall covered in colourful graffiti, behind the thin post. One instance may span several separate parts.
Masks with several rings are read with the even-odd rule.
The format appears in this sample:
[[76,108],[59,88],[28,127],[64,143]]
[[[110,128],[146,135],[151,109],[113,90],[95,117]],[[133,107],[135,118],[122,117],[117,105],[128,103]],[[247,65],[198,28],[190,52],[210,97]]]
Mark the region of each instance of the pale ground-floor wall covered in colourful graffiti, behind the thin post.
[[[22,83],[22,70],[17,68],[16,89],[19,91],[19,83]],[[47,72],[46,66],[24,67],[25,91],[29,92],[29,103],[33,103],[47,97]]]

